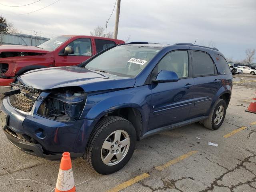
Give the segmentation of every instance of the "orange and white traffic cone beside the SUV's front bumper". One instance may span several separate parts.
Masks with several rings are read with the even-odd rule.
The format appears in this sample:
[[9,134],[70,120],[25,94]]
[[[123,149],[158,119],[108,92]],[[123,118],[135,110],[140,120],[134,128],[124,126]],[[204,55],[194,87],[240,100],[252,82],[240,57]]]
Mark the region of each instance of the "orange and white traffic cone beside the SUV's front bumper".
[[56,183],[55,192],[75,192],[76,187],[74,183],[70,153],[64,152],[60,162],[60,170]]

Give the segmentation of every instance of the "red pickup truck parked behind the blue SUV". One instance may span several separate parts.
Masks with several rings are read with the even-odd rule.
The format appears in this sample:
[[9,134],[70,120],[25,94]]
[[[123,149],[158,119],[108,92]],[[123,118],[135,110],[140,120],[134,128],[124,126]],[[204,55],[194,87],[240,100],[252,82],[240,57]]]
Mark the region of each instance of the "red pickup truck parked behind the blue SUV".
[[82,35],[63,35],[34,46],[0,46],[0,86],[34,69],[77,65],[96,53],[124,41]]

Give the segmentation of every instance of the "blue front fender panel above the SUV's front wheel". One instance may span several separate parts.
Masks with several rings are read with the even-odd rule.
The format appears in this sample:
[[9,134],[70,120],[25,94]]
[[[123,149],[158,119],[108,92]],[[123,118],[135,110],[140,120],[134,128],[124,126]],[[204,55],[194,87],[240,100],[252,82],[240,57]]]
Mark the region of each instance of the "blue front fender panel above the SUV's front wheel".
[[88,95],[81,118],[98,119],[120,108],[136,108],[142,122],[148,122],[150,114],[150,85],[128,88],[103,94]]

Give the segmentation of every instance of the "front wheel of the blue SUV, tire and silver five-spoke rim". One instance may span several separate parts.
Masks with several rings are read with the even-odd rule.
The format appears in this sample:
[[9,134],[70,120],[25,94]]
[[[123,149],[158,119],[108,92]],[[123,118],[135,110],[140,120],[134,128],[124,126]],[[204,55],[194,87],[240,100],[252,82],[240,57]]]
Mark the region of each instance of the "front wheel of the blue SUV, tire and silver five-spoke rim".
[[135,142],[136,132],[128,120],[108,116],[96,126],[88,142],[85,159],[100,174],[114,173],[130,160]]

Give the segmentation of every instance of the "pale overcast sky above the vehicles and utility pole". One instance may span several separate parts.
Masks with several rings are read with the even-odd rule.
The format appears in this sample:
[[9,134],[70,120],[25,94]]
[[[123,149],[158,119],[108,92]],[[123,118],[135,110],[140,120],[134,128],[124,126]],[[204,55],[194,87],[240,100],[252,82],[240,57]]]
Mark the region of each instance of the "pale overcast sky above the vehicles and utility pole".
[[[0,0],[9,6],[37,0]],[[0,5],[0,14],[26,34],[51,37],[62,34],[89,35],[104,26],[116,0],[41,0],[23,7]],[[108,22],[114,31],[116,9]],[[245,58],[246,48],[256,48],[256,0],[121,0],[118,39],[174,44],[214,42],[226,57]],[[256,62],[256,60],[254,60]]]

